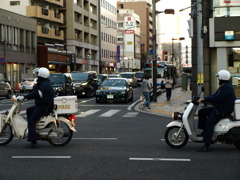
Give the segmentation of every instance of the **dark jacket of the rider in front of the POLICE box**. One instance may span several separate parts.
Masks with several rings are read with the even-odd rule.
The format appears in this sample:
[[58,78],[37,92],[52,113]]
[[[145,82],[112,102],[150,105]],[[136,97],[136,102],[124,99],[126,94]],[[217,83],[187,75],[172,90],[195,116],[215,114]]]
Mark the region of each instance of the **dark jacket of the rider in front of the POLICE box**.
[[[39,92],[40,90],[40,92]],[[42,93],[42,97],[40,96]],[[37,84],[33,87],[33,91],[26,95],[26,99],[35,99],[36,106],[47,108],[53,102],[55,92],[48,79],[40,78]]]

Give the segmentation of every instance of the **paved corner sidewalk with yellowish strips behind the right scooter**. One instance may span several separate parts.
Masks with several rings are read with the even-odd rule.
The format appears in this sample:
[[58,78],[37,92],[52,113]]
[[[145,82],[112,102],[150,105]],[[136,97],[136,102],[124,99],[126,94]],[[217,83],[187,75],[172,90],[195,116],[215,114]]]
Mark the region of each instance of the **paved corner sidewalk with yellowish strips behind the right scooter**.
[[182,90],[182,87],[177,87],[172,90],[172,97],[167,101],[165,91],[157,97],[157,102],[151,102],[151,109],[141,110],[140,104],[136,106],[136,110],[148,112],[151,114],[159,114],[161,116],[171,117],[173,112],[183,112],[187,100],[192,99],[192,91]]

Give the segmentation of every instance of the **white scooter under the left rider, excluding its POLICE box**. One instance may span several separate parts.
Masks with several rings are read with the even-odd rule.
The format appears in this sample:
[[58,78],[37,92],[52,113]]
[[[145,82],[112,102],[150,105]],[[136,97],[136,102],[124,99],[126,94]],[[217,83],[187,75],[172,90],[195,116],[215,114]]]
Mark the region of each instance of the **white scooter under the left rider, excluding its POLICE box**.
[[[23,96],[12,96],[13,105],[9,111],[0,114],[0,146],[10,143],[14,136],[18,139],[25,139],[28,135],[27,121],[20,115]],[[68,144],[75,130],[76,116],[64,114],[58,116],[57,106],[53,113],[42,117],[36,123],[37,138],[46,140],[54,146],[64,146]]]

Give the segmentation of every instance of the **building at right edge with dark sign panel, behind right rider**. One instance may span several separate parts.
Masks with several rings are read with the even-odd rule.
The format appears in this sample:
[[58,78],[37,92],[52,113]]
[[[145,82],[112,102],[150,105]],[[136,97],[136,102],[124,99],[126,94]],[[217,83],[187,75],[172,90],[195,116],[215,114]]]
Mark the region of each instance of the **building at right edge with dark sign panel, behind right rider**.
[[[192,4],[196,1],[192,0]],[[205,95],[212,94],[218,87],[215,77],[219,70],[226,69],[231,73],[231,82],[236,95],[240,97],[240,2],[211,0],[203,2],[203,24],[207,29],[203,39],[203,74]],[[192,10],[195,7],[192,8]],[[198,72],[197,62],[197,26],[196,15],[193,16],[194,37],[192,47],[193,72]],[[193,73],[193,94],[197,95],[197,74]]]

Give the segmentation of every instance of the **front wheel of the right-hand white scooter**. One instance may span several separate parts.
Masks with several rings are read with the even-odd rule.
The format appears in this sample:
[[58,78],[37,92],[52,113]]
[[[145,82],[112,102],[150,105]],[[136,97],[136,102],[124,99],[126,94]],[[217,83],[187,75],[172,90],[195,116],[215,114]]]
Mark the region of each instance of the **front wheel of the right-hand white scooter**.
[[169,127],[165,132],[165,141],[166,143],[175,149],[179,149],[184,147],[188,142],[188,134],[185,129],[182,129],[179,135],[177,136],[177,133],[179,131],[180,127],[173,126]]

